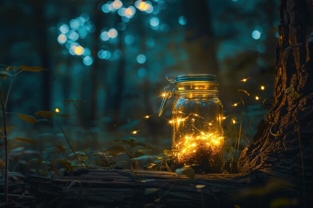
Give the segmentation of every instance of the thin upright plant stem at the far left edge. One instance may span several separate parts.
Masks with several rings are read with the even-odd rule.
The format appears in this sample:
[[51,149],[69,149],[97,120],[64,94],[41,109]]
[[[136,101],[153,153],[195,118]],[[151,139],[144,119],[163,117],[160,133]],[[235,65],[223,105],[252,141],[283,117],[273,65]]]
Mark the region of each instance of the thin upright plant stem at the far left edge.
[[2,78],[1,89],[1,101],[2,101],[2,118],[3,118],[3,132],[4,132],[4,148],[5,148],[5,173],[4,173],[4,199],[5,204],[8,205],[8,148],[7,148],[7,132],[6,132],[6,117],[5,117],[5,103],[4,103],[4,79]]

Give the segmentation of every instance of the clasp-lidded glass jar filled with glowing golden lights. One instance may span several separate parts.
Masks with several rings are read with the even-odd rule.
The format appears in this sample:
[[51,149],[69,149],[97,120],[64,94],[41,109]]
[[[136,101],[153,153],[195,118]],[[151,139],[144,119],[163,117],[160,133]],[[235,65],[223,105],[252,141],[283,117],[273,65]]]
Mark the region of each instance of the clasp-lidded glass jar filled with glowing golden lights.
[[223,112],[215,75],[177,76],[175,89],[164,89],[163,102],[175,95],[172,116],[172,168],[197,164],[197,173],[220,173],[223,165]]

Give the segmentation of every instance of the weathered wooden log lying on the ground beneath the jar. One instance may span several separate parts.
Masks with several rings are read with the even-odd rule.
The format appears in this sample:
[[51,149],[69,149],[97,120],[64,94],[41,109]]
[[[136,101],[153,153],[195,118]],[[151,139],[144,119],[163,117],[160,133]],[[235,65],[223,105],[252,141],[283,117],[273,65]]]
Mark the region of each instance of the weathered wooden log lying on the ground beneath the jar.
[[40,199],[39,208],[253,207],[263,206],[254,198],[297,195],[290,181],[259,170],[196,175],[191,180],[172,172],[79,169],[72,176],[31,176],[28,180],[32,195]]

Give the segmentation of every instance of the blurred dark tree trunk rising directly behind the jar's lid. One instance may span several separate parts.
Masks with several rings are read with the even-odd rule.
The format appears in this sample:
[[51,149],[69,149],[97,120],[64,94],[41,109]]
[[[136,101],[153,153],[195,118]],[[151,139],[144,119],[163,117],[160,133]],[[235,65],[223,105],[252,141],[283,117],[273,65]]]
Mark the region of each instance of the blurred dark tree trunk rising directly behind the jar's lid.
[[186,20],[185,47],[194,73],[218,75],[216,46],[207,0],[183,0]]

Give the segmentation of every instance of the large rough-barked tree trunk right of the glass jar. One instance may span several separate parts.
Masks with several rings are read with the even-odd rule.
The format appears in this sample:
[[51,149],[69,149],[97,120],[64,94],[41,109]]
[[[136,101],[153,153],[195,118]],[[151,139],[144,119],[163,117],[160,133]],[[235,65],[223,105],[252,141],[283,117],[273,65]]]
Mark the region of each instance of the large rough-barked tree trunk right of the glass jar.
[[[299,131],[305,186],[306,191],[311,192],[313,1],[280,0],[279,13],[273,108],[261,137],[243,150],[237,168],[240,172],[270,168],[277,176],[293,176],[292,181],[303,187]],[[301,96],[295,99],[297,95]],[[287,132],[291,133],[285,134]]]

